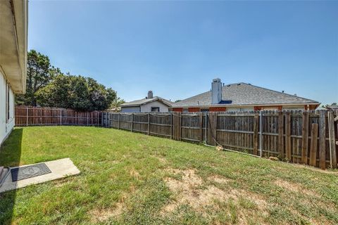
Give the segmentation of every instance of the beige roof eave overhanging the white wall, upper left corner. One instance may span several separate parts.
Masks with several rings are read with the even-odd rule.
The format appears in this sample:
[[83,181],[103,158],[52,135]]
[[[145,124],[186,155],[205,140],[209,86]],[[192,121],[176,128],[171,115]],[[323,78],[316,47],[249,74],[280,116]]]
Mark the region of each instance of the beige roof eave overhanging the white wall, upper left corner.
[[0,66],[11,89],[24,94],[27,71],[26,0],[0,1]]

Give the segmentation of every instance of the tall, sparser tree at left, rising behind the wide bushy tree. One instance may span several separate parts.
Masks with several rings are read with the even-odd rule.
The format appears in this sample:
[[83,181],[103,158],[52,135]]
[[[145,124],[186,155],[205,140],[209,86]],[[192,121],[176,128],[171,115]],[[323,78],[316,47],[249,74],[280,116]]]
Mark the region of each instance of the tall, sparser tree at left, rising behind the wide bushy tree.
[[30,50],[27,54],[26,94],[18,94],[15,98],[16,104],[36,106],[35,93],[59,74],[61,74],[61,70],[51,66],[48,56]]

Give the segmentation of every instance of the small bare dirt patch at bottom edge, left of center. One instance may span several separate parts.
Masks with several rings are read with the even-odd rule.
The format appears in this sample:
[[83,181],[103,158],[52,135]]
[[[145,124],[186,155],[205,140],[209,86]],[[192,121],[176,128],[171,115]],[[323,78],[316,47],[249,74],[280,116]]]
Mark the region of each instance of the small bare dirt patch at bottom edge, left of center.
[[93,222],[103,222],[111,217],[118,217],[123,213],[123,203],[117,203],[114,208],[106,208],[106,209],[95,209],[89,212],[92,216]]

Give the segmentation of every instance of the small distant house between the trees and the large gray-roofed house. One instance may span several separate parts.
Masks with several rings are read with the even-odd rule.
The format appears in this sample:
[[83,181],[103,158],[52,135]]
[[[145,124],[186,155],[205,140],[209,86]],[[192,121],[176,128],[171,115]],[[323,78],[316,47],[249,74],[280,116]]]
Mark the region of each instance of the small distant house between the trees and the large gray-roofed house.
[[120,106],[122,113],[148,113],[168,112],[171,105],[173,105],[171,101],[153,96],[153,91],[148,91],[146,98],[123,103]]

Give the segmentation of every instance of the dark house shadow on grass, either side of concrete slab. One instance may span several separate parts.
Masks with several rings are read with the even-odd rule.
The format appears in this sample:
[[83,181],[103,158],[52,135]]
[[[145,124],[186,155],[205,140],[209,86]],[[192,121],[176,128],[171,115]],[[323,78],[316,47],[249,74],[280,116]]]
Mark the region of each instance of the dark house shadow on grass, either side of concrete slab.
[[[15,167],[20,164],[23,129],[14,129],[0,148],[0,165]],[[0,193],[0,224],[11,224],[16,191]]]

